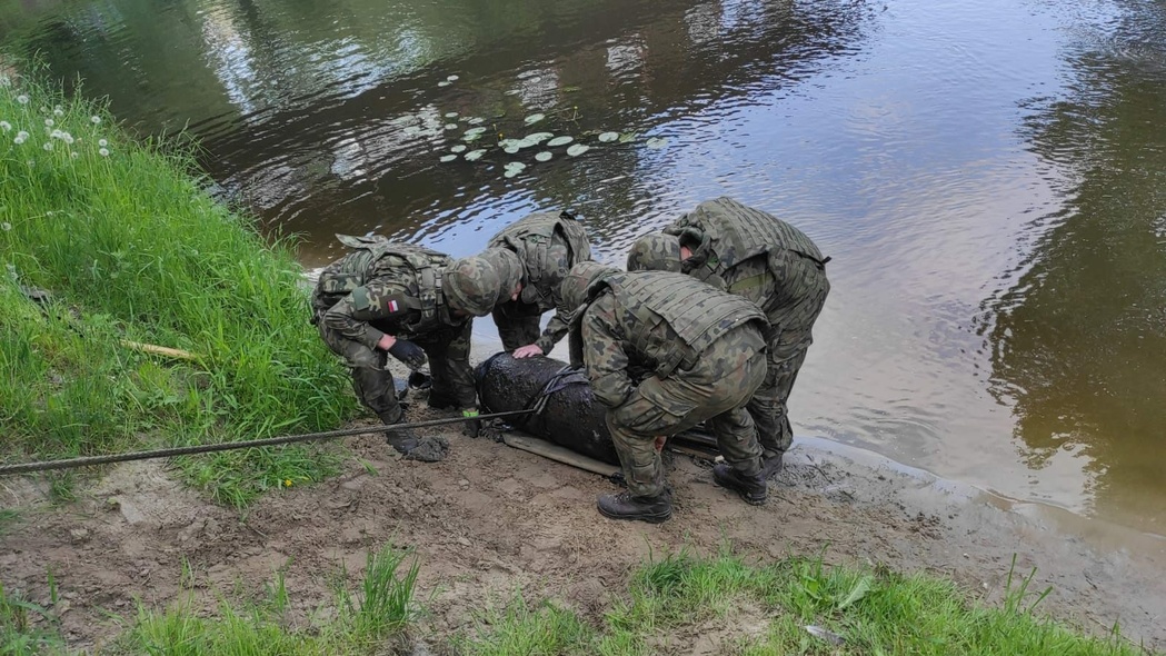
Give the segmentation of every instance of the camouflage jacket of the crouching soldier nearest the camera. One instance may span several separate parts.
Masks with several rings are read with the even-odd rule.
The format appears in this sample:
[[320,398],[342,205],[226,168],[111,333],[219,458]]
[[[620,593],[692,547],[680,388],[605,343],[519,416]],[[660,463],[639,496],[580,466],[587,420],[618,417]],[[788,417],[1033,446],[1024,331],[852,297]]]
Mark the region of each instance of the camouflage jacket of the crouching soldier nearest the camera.
[[595,397],[609,407],[635,389],[632,371],[663,378],[690,369],[733,328],[766,324],[753,303],[681,273],[614,274],[596,282],[591,299],[573,323],[571,364],[586,365]]

